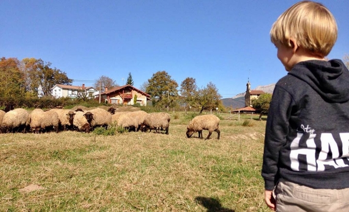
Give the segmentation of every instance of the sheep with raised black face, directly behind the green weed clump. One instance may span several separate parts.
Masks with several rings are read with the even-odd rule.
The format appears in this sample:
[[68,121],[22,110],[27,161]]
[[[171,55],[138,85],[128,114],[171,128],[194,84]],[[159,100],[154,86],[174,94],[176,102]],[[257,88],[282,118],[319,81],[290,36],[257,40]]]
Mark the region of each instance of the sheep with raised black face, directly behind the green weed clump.
[[85,113],[85,115],[92,128],[98,126],[107,128],[108,125],[111,124],[111,113],[102,108],[97,107],[89,110]]

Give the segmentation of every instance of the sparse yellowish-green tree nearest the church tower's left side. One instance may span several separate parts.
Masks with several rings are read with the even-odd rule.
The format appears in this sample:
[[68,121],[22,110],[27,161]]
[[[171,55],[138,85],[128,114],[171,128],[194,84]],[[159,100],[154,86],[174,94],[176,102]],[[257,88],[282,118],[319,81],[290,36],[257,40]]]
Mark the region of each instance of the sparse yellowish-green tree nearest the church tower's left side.
[[205,109],[216,109],[216,107],[222,106],[222,96],[219,94],[216,86],[209,82],[207,86],[198,91],[196,102],[200,107],[200,113]]

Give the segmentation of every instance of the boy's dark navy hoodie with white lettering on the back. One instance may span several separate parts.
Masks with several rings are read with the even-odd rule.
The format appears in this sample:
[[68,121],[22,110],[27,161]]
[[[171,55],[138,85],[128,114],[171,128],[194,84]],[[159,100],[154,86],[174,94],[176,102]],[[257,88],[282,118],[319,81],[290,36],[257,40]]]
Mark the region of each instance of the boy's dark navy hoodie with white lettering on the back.
[[312,188],[349,188],[349,71],[340,60],[303,61],[275,86],[262,176]]

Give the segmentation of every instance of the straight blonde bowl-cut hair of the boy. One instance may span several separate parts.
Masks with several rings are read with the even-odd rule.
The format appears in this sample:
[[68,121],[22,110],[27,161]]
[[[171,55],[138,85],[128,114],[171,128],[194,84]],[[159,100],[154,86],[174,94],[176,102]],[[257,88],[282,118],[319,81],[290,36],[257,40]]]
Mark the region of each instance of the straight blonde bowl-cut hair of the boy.
[[273,44],[291,47],[290,38],[310,53],[325,57],[337,40],[337,24],[321,3],[301,1],[280,15],[270,30]]

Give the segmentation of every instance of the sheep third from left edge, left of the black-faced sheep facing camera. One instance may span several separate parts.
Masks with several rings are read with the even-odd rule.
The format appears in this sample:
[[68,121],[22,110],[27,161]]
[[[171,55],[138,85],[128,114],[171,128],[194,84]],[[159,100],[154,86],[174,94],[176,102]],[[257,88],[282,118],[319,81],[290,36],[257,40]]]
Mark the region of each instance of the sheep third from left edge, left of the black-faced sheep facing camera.
[[31,128],[33,133],[50,132],[53,129],[59,132],[59,118],[54,110],[43,111],[34,109],[30,115]]

